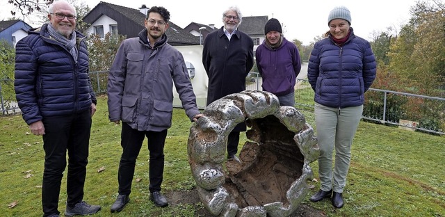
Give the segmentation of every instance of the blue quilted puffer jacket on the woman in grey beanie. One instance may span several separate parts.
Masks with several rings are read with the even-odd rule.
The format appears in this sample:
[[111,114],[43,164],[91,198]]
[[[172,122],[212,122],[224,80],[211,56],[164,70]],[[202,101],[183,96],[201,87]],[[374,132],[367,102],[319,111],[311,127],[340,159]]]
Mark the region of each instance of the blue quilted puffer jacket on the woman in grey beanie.
[[364,104],[364,93],[375,79],[376,63],[371,45],[351,34],[343,47],[329,37],[314,45],[307,79],[315,91],[315,102],[331,108]]

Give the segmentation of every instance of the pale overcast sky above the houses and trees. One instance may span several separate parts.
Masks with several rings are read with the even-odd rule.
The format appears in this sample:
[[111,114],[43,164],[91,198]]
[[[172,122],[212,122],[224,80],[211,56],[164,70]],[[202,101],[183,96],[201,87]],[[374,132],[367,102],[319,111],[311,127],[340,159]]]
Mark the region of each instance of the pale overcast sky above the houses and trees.
[[[6,0],[0,0],[0,19],[11,17],[10,6]],[[83,0],[78,0],[79,2]],[[88,0],[90,8],[97,6],[100,0]],[[325,33],[327,15],[335,6],[346,6],[352,17],[351,26],[355,34],[367,40],[372,39],[373,32],[386,31],[387,27],[400,29],[410,18],[410,8],[416,0],[307,0],[293,1],[265,1],[265,0],[164,0],[164,1],[122,1],[103,0],[129,8],[163,6],[170,11],[170,22],[186,27],[191,22],[200,24],[215,24],[223,26],[223,12],[229,6],[238,6],[243,16],[275,17],[284,24],[284,37],[289,40],[298,39],[303,45],[309,45],[314,37]],[[287,2],[287,3],[286,3]],[[8,8],[8,9],[6,9]],[[141,22],[143,22],[141,20]],[[35,27],[35,26],[34,26]]]

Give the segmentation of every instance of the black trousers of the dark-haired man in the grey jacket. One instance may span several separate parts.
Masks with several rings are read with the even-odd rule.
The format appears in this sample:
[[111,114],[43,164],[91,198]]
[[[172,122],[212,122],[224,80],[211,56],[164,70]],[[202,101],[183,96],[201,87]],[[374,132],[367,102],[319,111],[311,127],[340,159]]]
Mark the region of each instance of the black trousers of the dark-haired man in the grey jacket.
[[138,131],[122,122],[121,145],[123,151],[118,172],[119,194],[129,195],[131,193],[134,167],[145,136],[147,136],[149,151],[149,191],[161,191],[167,129],[160,132]]

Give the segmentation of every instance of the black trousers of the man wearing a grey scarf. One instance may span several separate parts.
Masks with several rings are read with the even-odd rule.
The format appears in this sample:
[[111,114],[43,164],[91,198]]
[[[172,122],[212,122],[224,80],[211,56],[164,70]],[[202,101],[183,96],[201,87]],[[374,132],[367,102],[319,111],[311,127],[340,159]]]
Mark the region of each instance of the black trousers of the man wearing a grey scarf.
[[67,166],[67,205],[83,200],[83,186],[88,164],[91,113],[43,118],[44,171],[42,182],[42,207],[44,216],[59,214],[58,198],[63,171]]

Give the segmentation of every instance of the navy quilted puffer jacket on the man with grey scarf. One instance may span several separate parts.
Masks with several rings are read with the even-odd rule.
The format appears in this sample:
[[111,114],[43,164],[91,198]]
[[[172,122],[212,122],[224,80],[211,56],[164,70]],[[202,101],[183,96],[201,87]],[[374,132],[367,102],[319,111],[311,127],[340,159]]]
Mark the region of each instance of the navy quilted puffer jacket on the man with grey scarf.
[[76,32],[77,63],[65,46],[49,37],[47,24],[30,29],[15,47],[15,93],[26,124],[72,115],[97,103],[88,75],[88,49]]

